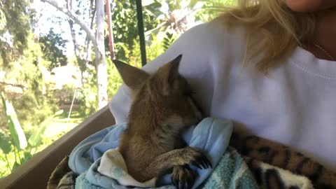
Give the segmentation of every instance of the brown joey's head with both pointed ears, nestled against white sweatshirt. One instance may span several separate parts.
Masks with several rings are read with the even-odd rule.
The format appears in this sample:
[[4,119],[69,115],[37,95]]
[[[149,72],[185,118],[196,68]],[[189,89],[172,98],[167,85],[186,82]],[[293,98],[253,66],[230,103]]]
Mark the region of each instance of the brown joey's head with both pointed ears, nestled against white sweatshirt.
[[179,74],[181,57],[167,62],[152,75],[113,60],[125,85],[132,91],[130,122],[186,127],[201,120],[202,114],[191,97],[190,85]]

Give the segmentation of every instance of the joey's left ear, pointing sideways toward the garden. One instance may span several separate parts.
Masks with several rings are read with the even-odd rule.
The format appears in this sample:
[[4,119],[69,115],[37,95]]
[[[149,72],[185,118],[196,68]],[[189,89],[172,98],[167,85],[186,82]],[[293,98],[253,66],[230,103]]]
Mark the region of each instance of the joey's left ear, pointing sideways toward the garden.
[[149,77],[149,74],[145,71],[126,64],[125,62],[121,62],[118,59],[113,59],[112,62],[116,65],[124,83],[130,87],[131,90],[136,90]]

